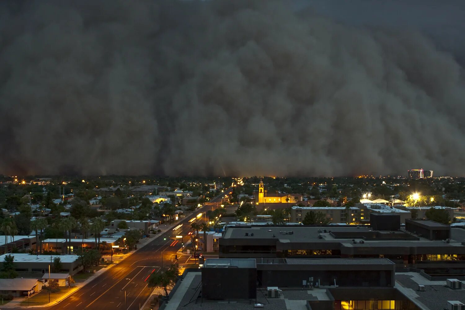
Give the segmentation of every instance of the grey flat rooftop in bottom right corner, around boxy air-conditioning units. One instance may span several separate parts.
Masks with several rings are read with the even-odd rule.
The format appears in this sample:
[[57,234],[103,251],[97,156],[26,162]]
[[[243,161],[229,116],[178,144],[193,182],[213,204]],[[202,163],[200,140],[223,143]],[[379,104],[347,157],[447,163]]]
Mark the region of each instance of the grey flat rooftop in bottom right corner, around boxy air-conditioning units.
[[[419,285],[425,285],[425,291],[419,291]],[[448,300],[465,303],[464,289],[452,290],[445,286],[445,281],[430,281],[416,272],[396,272],[395,288],[423,310],[447,309]]]

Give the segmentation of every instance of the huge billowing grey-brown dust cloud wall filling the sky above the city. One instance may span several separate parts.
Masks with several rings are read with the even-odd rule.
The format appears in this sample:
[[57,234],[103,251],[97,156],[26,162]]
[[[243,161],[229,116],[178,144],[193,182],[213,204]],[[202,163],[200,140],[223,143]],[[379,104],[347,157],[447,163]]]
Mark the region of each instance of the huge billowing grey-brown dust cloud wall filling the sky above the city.
[[2,1],[0,173],[464,176],[464,1],[323,2]]

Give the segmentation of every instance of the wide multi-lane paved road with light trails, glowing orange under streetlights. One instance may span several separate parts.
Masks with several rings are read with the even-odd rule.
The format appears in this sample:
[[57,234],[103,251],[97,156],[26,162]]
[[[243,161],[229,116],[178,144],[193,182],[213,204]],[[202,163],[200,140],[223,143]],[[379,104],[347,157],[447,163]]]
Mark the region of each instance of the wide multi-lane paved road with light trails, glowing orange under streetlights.
[[[127,257],[120,264],[107,270],[96,277],[80,290],[77,290],[60,303],[47,307],[50,310],[138,310],[150,296],[153,288],[147,286],[147,278],[153,272],[159,272],[162,264],[164,267],[174,260],[176,252],[181,248],[181,241],[177,235],[187,236],[191,231],[189,220],[196,218],[200,212],[216,208],[221,203],[221,198],[228,194],[227,189],[221,195],[215,197],[210,203],[199,208],[179,224],[177,230],[166,231],[153,241],[147,243],[139,251]],[[177,242],[176,242],[177,241]],[[187,237],[184,238],[187,241]],[[179,263],[186,263],[187,256],[179,257]],[[126,290],[126,307],[125,291]],[[20,308],[16,308],[20,309]]]

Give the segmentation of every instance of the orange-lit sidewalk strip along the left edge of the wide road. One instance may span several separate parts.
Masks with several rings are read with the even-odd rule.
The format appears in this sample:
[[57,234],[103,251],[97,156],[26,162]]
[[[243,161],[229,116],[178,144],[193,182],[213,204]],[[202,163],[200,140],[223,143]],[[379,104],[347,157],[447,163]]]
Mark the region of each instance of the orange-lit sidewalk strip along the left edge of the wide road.
[[[53,306],[53,305],[55,305],[57,303],[60,303],[63,299],[70,296],[71,294],[73,294],[74,292],[79,290],[81,287],[83,287],[86,284],[88,284],[89,282],[91,282],[96,277],[99,277],[106,270],[109,270],[109,269],[113,268],[113,266],[116,266],[117,264],[121,263],[124,259],[126,259],[126,257],[129,257],[133,253],[139,251],[144,245],[146,245],[149,242],[153,241],[154,238],[158,238],[161,234],[163,234],[166,231],[169,231],[169,230],[173,229],[173,227],[175,227],[177,225],[178,225],[177,223],[174,223],[174,224],[171,224],[171,225],[168,224],[166,226],[164,224],[160,225],[158,227],[158,229],[161,230],[159,233],[157,233],[156,235],[155,234],[150,234],[149,238],[139,239],[139,243],[137,244],[137,250],[133,250],[133,251],[130,251],[130,252],[128,252],[126,254],[122,254],[122,255],[120,255],[120,254],[119,255],[114,255],[113,254],[113,264],[110,264],[110,265],[108,265],[108,267],[102,268],[102,269],[96,271],[95,274],[93,274],[93,276],[87,278],[85,281],[79,282],[79,283],[77,282],[76,284],[74,284],[74,286],[71,288],[71,290],[67,291],[65,294],[63,294],[59,298],[51,301],[50,303],[45,303],[45,304],[42,304],[42,305],[35,305],[35,306],[22,306],[22,305],[20,305],[20,303],[22,303],[23,301],[27,301],[27,297],[25,297],[25,298],[15,298],[12,301],[8,302],[7,304],[1,306],[1,308],[16,308],[16,307],[44,308],[44,307],[49,307],[49,306]],[[105,256],[102,256],[102,257],[108,257],[108,260],[109,260],[111,258],[111,255],[105,255]]]

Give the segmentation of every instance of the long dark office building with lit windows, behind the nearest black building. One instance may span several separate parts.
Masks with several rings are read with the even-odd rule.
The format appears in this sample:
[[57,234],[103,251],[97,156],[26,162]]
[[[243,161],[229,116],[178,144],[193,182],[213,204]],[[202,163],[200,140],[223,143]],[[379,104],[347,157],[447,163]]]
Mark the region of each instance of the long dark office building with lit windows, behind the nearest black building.
[[[388,258],[397,268],[430,274],[465,274],[465,230],[430,221],[411,221],[411,231],[374,231],[370,227],[227,227],[219,239],[224,258]],[[426,230],[418,233],[419,229]],[[439,238],[439,240],[431,240]],[[443,241],[444,240],[444,241]],[[451,264],[452,263],[452,264]]]

